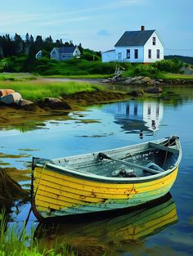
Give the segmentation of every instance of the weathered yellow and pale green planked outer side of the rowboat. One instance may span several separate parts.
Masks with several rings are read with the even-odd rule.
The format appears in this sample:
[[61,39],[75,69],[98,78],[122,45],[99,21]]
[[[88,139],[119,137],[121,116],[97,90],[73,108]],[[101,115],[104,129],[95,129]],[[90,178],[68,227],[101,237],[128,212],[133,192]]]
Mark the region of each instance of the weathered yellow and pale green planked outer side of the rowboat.
[[38,219],[123,209],[167,194],[177,177],[177,169],[163,177],[143,182],[115,183],[85,179],[50,168],[35,168],[33,209]]

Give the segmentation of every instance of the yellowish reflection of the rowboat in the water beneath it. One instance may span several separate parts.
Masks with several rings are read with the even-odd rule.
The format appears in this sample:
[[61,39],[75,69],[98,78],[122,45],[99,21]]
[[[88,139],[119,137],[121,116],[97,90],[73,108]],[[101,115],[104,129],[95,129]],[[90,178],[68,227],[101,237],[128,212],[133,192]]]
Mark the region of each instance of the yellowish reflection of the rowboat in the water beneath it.
[[62,223],[39,224],[35,231],[39,248],[52,249],[68,244],[78,251],[79,247],[83,250],[89,246],[91,251],[92,247],[97,247],[109,251],[108,255],[118,255],[120,250],[123,253],[133,244],[139,246],[146,236],[177,222],[176,205],[169,193],[154,203],[108,214],[95,213],[91,218],[81,216],[67,218]]

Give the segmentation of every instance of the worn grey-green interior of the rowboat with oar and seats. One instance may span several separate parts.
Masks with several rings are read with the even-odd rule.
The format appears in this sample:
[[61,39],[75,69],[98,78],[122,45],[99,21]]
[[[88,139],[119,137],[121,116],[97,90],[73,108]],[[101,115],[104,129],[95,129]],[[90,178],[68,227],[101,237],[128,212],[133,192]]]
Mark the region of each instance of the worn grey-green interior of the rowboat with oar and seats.
[[163,173],[177,162],[177,145],[146,142],[86,155],[50,160],[47,166],[102,177],[146,177]]

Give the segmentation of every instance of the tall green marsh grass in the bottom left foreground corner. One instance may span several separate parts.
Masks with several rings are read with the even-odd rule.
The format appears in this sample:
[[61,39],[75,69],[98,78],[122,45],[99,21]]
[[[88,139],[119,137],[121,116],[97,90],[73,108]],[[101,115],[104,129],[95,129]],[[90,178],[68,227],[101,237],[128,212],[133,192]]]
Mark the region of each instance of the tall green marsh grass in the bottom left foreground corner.
[[4,209],[0,213],[0,256],[74,256],[68,245],[54,249],[39,249],[38,241],[34,239],[34,229],[27,236],[25,222],[18,231],[16,225],[7,224],[7,214]]

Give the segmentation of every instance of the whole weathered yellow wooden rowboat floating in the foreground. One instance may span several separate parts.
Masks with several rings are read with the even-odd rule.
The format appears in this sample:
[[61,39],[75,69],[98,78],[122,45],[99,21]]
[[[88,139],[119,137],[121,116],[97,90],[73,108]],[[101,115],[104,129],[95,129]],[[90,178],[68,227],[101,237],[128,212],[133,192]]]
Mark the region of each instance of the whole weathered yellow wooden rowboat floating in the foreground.
[[178,137],[60,159],[33,158],[32,209],[38,220],[145,204],[177,177]]

